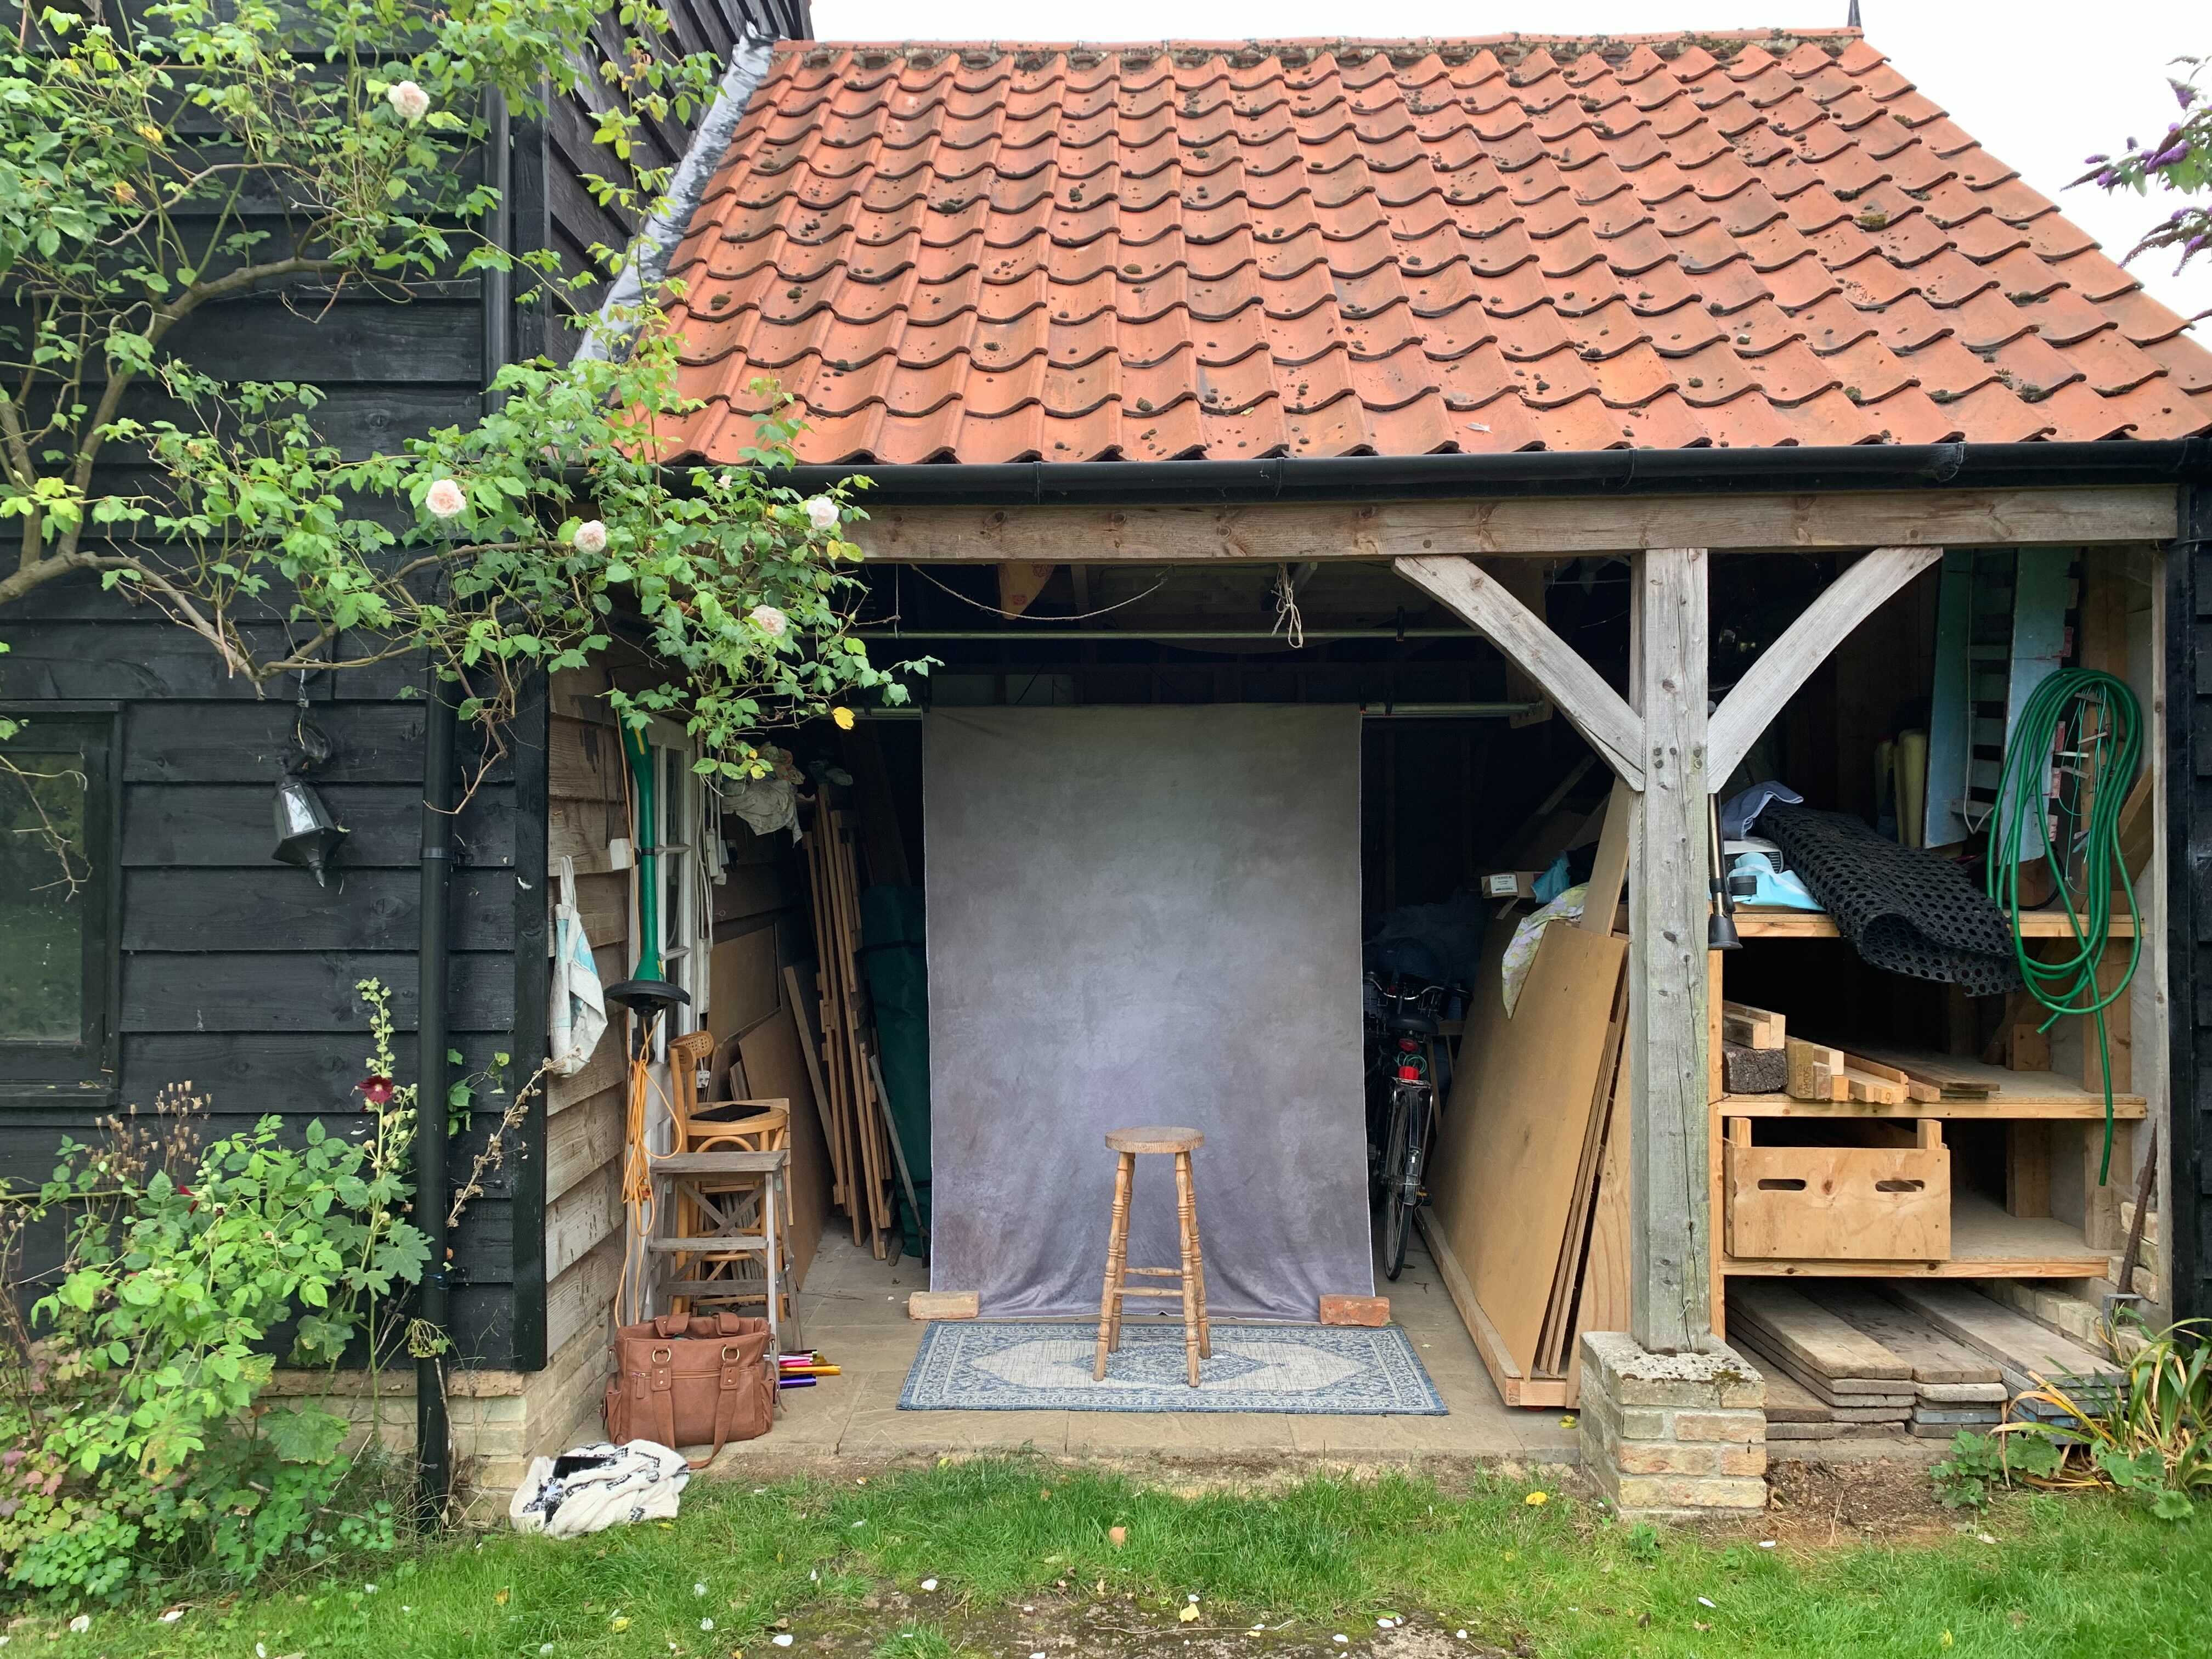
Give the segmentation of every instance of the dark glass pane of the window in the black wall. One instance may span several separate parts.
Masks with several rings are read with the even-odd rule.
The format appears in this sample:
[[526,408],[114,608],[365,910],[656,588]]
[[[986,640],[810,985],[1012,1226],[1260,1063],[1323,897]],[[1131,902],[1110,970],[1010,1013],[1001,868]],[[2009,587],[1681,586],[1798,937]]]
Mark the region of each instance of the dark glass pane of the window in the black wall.
[[0,1042],[77,1042],[91,905],[84,757],[9,748],[7,759],[13,770],[0,768]]

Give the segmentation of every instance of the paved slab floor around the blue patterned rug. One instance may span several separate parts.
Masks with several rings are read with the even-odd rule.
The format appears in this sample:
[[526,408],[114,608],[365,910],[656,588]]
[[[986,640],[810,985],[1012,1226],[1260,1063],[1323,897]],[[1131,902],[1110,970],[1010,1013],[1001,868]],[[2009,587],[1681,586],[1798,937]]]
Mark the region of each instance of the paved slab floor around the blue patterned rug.
[[1416,1243],[1396,1283],[1376,1272],[1391,1318],[1411,1336],[1449,1416],[1323,1418],[1272,1411],[900,1411],[898,1394],[920,1349],[907,1296],[929,1287],[927,1263],[887,1265],[843,1232],[825,1232],[799,1292],[799,1334],[843,1376],[785,1389],[776,1427],[726,1447],[717,1475],[765,1473],[768,1464],[818,1458],[936,1458],[975,1451],[1040,1451],[1082,1460],[1170,1464],[1332,1464],[1577,1460],[1562,1411],[1517,1411],[1489,1374]]

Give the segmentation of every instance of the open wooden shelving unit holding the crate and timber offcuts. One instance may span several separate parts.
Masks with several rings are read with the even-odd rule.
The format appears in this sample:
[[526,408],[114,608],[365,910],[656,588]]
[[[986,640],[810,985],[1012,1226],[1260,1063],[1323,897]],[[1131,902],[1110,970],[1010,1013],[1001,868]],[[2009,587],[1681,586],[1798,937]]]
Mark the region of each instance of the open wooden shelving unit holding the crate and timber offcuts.
[[[1736,911],[1736,931],[1743,938],[1838,938],[1829,916],[1809,911]],[[2064,914],[2031,914],[2022,918],[2022,938],[2066,940],[2073,929]],[[2132,920],[2121,914],[2112,920],[2112,933],[2126,938]],[[2104,1088],[2095,1077],[2075,1077],[2055,1071],[2013,1071],[1960,1055],[1911,1053],[1893,1046],[1863,1046],[1871,1060],[1882,1060],[1909,1071],[1924,1068],[1931,1075],[1955,1077],[1960,1084],[1986,1088],[1982,1099],[1933,1099],[1867,1104],[1867,1102],[1807,1102],[1790,1095],[1725,1095],[1719,1086],[1721,1044],[1721,998],[1725,975],[1725,951],[1712,953],[1712,1053],[1714,1095],[1710,1121],[1710,1199],[1712,1199],[1712,1307],[1714,1329],[1725,1338],[1725,1307],[1730,1276],[1759,1279],[2099,1279],[2110,1270],[2110,1256],[2119,1248],[2119,1194],[2117,1188],[2095,1186],[2095,1164],[2090,1164],[2084,1186],[2084,1223],[2075,1225],[2051,1214],[2051,1170],[2053,1170],[2053,1124],[2104,1124]],[[1743,1000],[1759,1002],[1756,995]],[[2126,998],[2115,1004],[2112,1022],[2112,1168],[2132,1168],[2132,1128],[2143,1119],[2143,1097],[2130,1088],[2130,1042],[2126,1026]],[[1807,1033],[1827,1037],[1832,1033]],[[2088,1071],[2095,1071],[2095,1048],[2090,1048]],[[2002,1124],[2006,1137],[2006,1194],[1995,1199],[1953,1179],[1951,1183],[1951,1248],[1940,1261],[1874,1261],[1874,1259],[1747,1259],[1728,1252],[1728,1179],[1725,1146],[1732,1119],[1798,1119],[1798,1121],[1887,1121],[1918,1124],[1936,1119],[1949,1130],[1953,1124]],[[2090,1137],[2090,1159],[2095,1141]]]

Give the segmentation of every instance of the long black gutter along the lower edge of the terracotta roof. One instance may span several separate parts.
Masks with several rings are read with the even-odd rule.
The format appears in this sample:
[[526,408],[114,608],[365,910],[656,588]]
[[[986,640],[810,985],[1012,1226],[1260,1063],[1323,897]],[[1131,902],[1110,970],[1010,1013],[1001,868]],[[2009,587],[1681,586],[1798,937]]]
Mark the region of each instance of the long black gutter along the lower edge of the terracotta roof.
[[[677,462],[675,471],[688,471]],[[787,467],[803,493],[869,480],[880,504],[1405,500],[1422,495],[1674,495],[1843,489],[2057,489],[2212,478],[2212,438],[1823,449],[1533,449],[1301,460],[1013,460],[982,467]]]

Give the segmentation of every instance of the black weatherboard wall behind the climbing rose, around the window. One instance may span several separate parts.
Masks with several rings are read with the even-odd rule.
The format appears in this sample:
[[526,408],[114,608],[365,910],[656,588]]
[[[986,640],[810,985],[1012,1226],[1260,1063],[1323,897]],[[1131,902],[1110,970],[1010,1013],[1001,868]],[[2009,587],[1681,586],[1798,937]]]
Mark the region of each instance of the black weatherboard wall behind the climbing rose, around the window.
[[[675,0],[675,46],[728,53],[743,35],[803,35],[794,0]],[[602,22],[586,58],[619,40]],[[555,248],[577,270],[591,243],[619,241],[580,173],[617,175],[588,146],[608,91],[593,80],[546,122],[509,128],[515,248]],[[641,166],[672,161],[686,135],[661,126]],[[489,159],[498,166],[498,157]],[[500,361],[568,354],[573,334],[544,307],[478,281],[427,288],[409,303],[354,290],[257,294],[210,307],[186,349],[223,378],[303,380],[325,392],[316,420],[349,456],[473,420]],[[13,549],[0,549],[13,557]],[[265,624],[281,646],[281,622]],[[58,721],[64,710],[113,732],[113,1071],[93,1086],[40,1082],[0,1053],[0,1177],[40,1181],[64,1135],[106,1113],[150,1106],[164,1084],[208,1097],[210,1133],[263,1113],[296,1124],[358,1110],[367,1071],[363,978],[392,991],[400,1077],[414,1075],[422,703],[414,664],[310,675],[307,717],[332,739],[316,787],[352,830],[330,887],[270,858],[272,794],[292,750],[301,688],[257,699],[184,628],[93,584],[51,584],[0,613],[0,708]],[[465,1068],[511,1051],[529,1073],[544,1051],[546,712],[542,692],[507,734],[456,825],[449,1024]],[[469,745],[465,743],[465,761]],[[97,849],[95,849],[97,852]],[[7,942],[0,940],[0,949]],[[449,1155],[467,1172],[498,1106]],[[453,1334],[478,1365],[544,1365],[544,1124],[524,1133],[453,1239]],[[31,1261],[35,1270],[40,1263]]]

